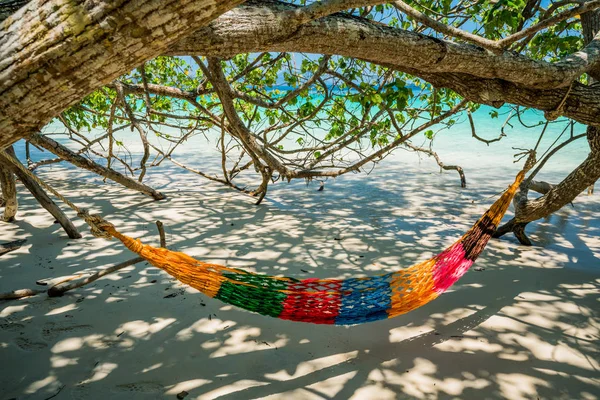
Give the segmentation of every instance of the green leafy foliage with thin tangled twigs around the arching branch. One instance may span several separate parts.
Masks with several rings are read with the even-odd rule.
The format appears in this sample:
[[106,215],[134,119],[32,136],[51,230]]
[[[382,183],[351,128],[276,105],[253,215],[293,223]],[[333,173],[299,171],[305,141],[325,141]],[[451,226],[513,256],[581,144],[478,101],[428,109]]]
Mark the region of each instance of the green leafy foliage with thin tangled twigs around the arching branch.
[[[303,6],[312,2],[294,3]],[[526,0],[407,3],[439,22],[493,40],[572,6],[569,2],[554,6]],[[349,12],[390,27],[443,38],[392,4]],[[517,41],[510,50],[554,61],[582,47],[580,31],[580,21],[570,18]],[[71,137],[76,133],[88,143],[104,137],[122,144],[123,140],[115,135],[127,132],[127,127],[154,133],[165,145],[153,142],[151,151],[158,158],[152,165],[176,154],[177,146],[190,137],[205,135],[225,160],[224,176],[219,179],[230,183],[244,170],[264,171],[265,167],[279,169],[279,174],[288,179],[360,170],[398,146],[414,150],[412,142],[433,140],[440,130],[464,122],[462,113],[479,107],[463,102],[451,90],[435,89],[422,79],[360,59],[269,52],[237,54],[221,60],[220,66],[232,94],[232,106],[249,131],[244,138],[233,128],[231,116],[225,115],[208,64],[202,57],[157,57],[87,96],[65,111],[61,122],[69,127]],[[116,90],[119,85],[123,98]],[[161,88],[177,89],[182,94],[166,95]],[[515,109],[511,116],[518,118],[520,112]],[[498,118],[499,114],[492,111],[490,117]],[[253,149],[249,140],[261,146],[264,153]],[[101,145],[101,141],[98,143]],[[96,149],[96,154],[102,152]],[[118,157],[117,153],[103,154],[109,162]],[[133,174],[143,168],[126,169]]]

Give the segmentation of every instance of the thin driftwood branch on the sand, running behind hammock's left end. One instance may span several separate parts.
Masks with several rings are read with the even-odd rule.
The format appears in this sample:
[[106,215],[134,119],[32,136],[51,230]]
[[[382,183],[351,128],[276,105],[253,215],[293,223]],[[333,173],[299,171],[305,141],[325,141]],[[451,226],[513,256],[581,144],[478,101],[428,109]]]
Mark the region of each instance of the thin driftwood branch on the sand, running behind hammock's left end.
[[[161,221],[156,221],[156,226],[158,228],[158,233],[160,236],[160,246],[166,247],[167,239],[165,236],[165,230],[163,223]],[[122,263],[110,266],[108,268],[102,269],[96,273],[89,275],[88,273],[77,273],[74,275],[68,275],[59,278],[48,278],[48,279],[40,279],[36,282],[38,285],[42,286],[50,286],[47,290],[48,296],[50,297],[59,297],[64,295],[69,290],[73,290],[76,288],[80,288],[82,286],[88,285],[103,276],[108,274],[112,274],[113,272],[119,271],[125,267],[129,267],[131,265],[135,265],[139,262],[144,261],[142,257],[132,258],[131,260],[124,261]],[[78,279],[83,277],[83,279]],[[19,289],[13,290],[7,293],[0,293],[0,300],[13,300],[20,299],[22,297],[35,296],[36,294],[40,294],[46,292],[45,289]]]

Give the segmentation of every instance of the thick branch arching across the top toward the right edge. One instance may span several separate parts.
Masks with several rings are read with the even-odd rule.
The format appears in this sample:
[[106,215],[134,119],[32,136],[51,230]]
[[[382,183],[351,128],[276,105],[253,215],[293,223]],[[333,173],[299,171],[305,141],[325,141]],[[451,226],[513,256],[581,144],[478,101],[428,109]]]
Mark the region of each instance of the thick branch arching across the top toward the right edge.
[[341,55],[395,65],[399,70],[466,73],[535,89],[567,86],[600,62],[599,40],[565,60],[549,63],[513,52],[494,55],[478,46],[343,14],[306,23],[291,36],[274,36],[274,32],[289,29],[286,16],[295,9],[277,1],[245,3],[180,40],[166,54],[230,57],[239,53],[287,51]]

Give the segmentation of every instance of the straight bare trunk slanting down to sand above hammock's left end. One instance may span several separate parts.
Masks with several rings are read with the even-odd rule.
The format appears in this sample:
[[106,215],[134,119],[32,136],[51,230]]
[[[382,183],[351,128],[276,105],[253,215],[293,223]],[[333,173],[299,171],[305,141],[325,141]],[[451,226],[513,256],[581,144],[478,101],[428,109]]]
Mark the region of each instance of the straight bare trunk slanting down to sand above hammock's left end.
[[150,186],[144,185],[143,183],[138,182],[135,179],[131,179],[120,172],[117,172],[110,168],[106,168],[88,158],[85,158],[82,155],[76,154],[73,151],[69,150],[67,147],[61,145],[53,139],[50,139],[47,136],[35,133],[31,135],[28,139],[31,143],[43,147],[44,149],[56,154],[60,158],[70,162],[71,164],[79,168],[95,172],[96,174],[108,178],[111,181],[117,182],[129,189],[136,190],[140,193],[148,195],[154,200],[162,200],[166,198],[164,194],[152,189]]

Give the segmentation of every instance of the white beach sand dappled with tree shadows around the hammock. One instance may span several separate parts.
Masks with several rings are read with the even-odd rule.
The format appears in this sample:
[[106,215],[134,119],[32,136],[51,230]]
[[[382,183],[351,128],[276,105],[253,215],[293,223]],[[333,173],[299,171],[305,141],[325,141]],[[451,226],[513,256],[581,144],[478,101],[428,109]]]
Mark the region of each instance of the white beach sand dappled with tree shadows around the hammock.
[[[512,179],[498,166],[471,166],[461,190],[454,173],[428,163],[388,167],[329,181],[324,192],[277,184],[259,207],[169,165],[150,179],[169,196],[163,202],[84,182],[77,171],[61,181],[59,166],[42,176],[129,235],[156,243],[160,219],[172,249],[298,278],[423,260]],[[597,399],[599,213],[600,196],[581,196],[575,209],[531,225],[537,246],[493,241],[476,263],[485,270],[471,270],[438,300],[355,327],[245,312],[144,264],[62,298],[2,302],[0,398],[46,399],[62,388],[55,399],[175,398],[183,390],[188,399]],[[0,225],[0,242],[28,241],[0,258],[0,291],[132,257],[114,241],[84,236],[67,239],[21,195],[18,222]]]

